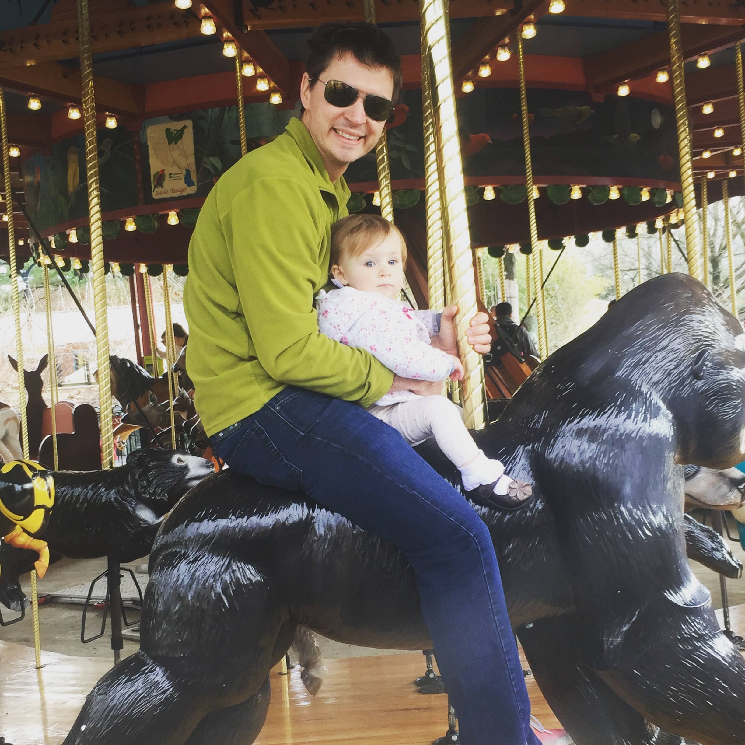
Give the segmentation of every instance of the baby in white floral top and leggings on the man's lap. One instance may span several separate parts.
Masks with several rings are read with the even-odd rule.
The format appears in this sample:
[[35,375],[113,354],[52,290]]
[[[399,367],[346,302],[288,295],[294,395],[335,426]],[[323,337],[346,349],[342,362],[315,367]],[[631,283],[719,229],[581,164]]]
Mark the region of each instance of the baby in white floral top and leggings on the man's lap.
[[[441,381],[463,378],[454,355],[431,345],[440,323],[452,323],[456,308],[414,311],[399,300],[406,244],[396,226],[377,215],[351,215],[332,228],[331,273],[339,289],[316,299],[318,327],[349,346],[369,349],[402,378]],[[504,466],[487,458],[463,423],[460,408],[445,396],[387,393],[370,413],[398,430],[411,445],[434,437],[463,476],[463,488],[479,501],[513,510],[532,489],[514,481]]]

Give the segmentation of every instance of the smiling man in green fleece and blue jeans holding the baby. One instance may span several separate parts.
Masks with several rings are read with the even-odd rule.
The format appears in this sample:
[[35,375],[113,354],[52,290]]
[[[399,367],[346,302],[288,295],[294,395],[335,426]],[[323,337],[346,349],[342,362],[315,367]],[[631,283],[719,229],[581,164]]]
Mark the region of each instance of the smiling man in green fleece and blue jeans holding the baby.
[[[302,119],[245,156],[207,197],[189,247],[188,373],[213,448],[232,469],[302,490],[408,557],[422,612],[469,745],[536,744],[489,531],[393,428],[365,411],[385,393],[440,384],[397,378],[320,335],[343,172],[381,136],[402,84],[390,39],[323,26],[302,77]],[[455,352],[444,314],[433,343]],[[469,342],[489,349],[486,314]]]

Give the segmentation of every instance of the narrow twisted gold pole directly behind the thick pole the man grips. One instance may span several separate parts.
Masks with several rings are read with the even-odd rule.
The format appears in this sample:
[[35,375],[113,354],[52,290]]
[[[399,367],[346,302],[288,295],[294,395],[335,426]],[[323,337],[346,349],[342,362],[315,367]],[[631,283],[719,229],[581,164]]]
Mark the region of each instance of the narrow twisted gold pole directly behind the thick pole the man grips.
[[430,308],[445,307],[445,267],[443,265],[443,211],[440,174],[437,168],[437,142],[432,104],[431,70],[424,28],[422,49],[422,118],[424,119],[425,214],[427,220],[427,286]]

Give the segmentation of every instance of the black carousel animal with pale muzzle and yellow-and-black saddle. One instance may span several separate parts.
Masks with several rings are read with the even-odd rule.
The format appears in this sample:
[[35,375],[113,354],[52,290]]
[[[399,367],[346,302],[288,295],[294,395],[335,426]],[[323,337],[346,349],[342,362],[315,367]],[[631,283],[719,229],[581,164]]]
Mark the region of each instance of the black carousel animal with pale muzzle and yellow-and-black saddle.
[[[43,563],[62,557],[112,557],[130,562],[146,556],[163,516],[212,472],[209,460],[174,450],[134,451],[124,466],[110,471],[47,471],[22,460],[2,466],[0,535],[12,530],[16,537],[10,539],[14,545],[7,538],[0,542],[0,603],[20,608],[24,596],[19,577],[34,564],[43,576]],[[38,483],[34,489],[39,478],[53,484],[53,489],[47,488],[51,500],[39,495]],[[45,506],[43,524],[40,519],[18,524],[7,517],[7,513],[16,514],[18,507],[12,505],[21,498],[30,512],[34,494]],[[40,517],[42,513],[37,510],[35,514]],[[25,539],[19,539],[21,533]]]

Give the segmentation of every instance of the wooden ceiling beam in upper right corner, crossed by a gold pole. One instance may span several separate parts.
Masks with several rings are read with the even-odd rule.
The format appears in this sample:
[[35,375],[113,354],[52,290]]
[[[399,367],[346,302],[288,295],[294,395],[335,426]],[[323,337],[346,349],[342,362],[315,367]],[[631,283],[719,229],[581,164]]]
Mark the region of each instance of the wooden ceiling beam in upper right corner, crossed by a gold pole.
[[[745,28],[686,24],[682,26],[681,36],[684,59],[694,60],[699,54],[711,54],[745,39]],[[592,91],[612,88],[624,80],[647,77],[669,65],[670,41],[667,31],[586,57],[584,62],[587,84]]]

